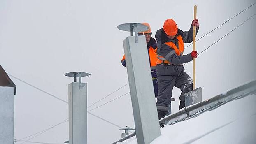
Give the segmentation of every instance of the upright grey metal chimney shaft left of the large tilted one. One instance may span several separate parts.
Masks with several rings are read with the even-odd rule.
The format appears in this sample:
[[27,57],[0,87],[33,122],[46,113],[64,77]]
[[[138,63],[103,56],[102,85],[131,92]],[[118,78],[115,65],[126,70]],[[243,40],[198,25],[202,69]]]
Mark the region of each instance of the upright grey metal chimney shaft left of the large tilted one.
[[87,83],[68,85],[69,144],[87,144]]

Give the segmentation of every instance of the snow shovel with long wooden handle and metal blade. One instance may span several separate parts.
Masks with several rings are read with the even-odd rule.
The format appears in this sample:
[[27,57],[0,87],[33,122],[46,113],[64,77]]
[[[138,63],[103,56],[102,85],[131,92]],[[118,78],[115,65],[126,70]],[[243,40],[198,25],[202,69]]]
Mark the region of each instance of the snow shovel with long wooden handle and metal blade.
[[[194,6],[194,19],[196,19],[196,5]],[[195,51],[195,26],[193,29],[193,51]],[[202,88],[195,88],[195,58],[193,58],[193,91],[185,93],[185,106],[202,101]]]

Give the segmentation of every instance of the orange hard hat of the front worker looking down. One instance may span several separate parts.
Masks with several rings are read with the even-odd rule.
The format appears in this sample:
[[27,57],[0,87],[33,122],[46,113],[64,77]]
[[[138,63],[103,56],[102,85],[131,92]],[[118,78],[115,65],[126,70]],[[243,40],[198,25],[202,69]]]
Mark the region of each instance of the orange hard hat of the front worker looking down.
[[173,36],[178,33],[178,26],[173,19],[167,19],[165,23],[163,23],[163,30],[166,35]]

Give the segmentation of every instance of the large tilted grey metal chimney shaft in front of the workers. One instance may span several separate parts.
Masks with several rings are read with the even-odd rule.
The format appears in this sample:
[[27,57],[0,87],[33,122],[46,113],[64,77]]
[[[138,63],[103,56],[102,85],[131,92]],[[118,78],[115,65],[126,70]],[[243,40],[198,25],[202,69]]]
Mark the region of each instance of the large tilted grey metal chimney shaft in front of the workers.
[[161,133],[145,36],[127,37],[123,47],[137,142],[149,144]]

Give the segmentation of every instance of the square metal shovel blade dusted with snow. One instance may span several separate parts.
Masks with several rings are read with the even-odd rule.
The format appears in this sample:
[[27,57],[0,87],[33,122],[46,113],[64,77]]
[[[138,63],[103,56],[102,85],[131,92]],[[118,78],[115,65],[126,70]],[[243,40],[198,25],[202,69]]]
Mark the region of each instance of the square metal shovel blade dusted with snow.
[[193,91],[185,93],[185,106],[193,105],[202,102],[202,88],[196,88]]

